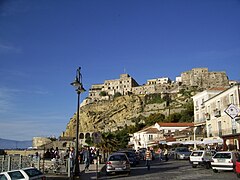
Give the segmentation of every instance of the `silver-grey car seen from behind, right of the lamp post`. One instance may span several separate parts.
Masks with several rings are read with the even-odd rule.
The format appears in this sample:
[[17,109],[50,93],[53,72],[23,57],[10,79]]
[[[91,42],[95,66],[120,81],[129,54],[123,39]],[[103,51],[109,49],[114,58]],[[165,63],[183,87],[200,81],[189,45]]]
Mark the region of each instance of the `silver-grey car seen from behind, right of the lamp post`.
[[113,153],[107,158],[106,174],[119,172],[125,172],[128,175],[131,172],[130,162],[125,153]]

